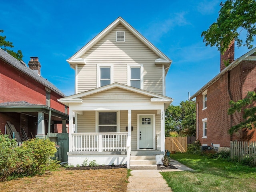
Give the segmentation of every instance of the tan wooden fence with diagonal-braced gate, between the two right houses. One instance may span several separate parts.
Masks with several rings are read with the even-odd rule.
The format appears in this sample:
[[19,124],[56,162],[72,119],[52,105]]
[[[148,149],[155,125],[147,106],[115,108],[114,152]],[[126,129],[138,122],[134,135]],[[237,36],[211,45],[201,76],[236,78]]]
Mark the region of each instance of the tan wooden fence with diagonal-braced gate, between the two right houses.
[[186,152],[188,144],[195,142],[196,137],[166,137],[165,138],[165,149],[170,152]]

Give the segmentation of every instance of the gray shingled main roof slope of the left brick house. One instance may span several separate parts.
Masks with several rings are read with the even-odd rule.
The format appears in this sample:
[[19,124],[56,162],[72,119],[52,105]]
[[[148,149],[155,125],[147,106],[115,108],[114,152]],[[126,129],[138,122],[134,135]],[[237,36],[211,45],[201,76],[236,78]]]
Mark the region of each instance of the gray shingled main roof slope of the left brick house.
[[4,61],[8,62],[10,65],[17,68],[18,70],[20,70],[24,74],[30,76],[31,78],[33,78],[37,82],[43,84],[44,86],[46,86],[50,90],[53,90],[54,92],[57,92],[61,96],[65,97],[65,94],[63,92],[61,92],[56,86],[54,86],[54,84],[50,83],[45,78],[39,76],[36,72],[31,70],[27,66],[24,66],[19,60],[17,60],[16,58],[14,58],[13,56],[8,54],[7,52],[2,50],[1,48],[0,48],[0,58],[2,58]]

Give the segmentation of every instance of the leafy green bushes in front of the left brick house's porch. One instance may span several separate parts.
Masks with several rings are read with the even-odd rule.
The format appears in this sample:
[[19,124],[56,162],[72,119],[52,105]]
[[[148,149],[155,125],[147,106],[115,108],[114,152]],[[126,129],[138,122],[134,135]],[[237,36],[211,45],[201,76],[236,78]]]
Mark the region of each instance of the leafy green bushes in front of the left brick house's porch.
[[53,160],[55,143],[50,140],[32,139],[17,146],[14,139],[0,134],[0,180],[43,174],[58,167]]

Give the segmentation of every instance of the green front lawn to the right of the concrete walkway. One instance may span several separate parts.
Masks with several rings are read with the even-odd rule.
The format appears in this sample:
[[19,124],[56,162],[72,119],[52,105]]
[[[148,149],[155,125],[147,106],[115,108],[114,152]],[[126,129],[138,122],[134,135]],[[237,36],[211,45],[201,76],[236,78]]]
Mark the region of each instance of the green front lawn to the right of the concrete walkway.
[[161,173],[173,192],[256,192],[256,168],[185,153],[171,158],[194,169]]

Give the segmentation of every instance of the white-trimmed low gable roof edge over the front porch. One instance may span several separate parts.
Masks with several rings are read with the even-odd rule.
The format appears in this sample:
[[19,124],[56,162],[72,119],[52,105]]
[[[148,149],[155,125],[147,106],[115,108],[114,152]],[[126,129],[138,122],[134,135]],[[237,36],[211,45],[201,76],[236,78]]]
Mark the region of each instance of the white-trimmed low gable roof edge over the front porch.
[[113,89],[113,88],[120,88],[120,89],[124,89],[124,90],[127,90],[127,91],[136,92],[138,94],[143,94],[145,96],[150,96],[150,97],[152,97],[152,99],[151,99],[152,102],[171,103],[173,101],[173,99],[170,98],[170,97],[162,96],[162,95],[159,95],[159,94],[156,94],[156,93],[141,90],[141,89],[134,88],[134,87],[127,86],[127,85],[124,85],[124,84],[120,84],[120,83],[112,83],[112,84],[102,86],[102,87],[98,87],[98,88],[95,88],[95,89],[92,89],[92,90],[89,90],[89,91],[85,91],[85,92],[82,92],[82,93],[70,95],[70,96],[67,96],[65,98],[60,98],[58,101],[66,104],[66,105],[68,105],[68,103],[82,103],[83,102],[83,100],[81,99],[82,97],[89,96],[89,95],[92,95],[92,94],[96,94],[96,93],[99,93],[99,92],[103,92],[103,91],[106,91],[106,90],[110,90],[110,89]]

